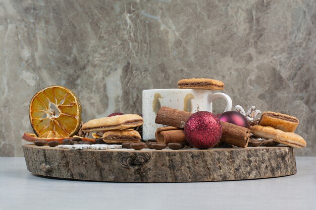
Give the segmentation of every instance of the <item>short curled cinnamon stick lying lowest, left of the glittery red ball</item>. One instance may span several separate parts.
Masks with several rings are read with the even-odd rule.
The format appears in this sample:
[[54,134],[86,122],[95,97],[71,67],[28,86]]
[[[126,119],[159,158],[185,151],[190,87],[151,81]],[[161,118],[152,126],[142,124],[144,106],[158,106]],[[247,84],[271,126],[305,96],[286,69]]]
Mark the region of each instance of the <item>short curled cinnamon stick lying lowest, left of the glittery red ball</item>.
[[155,132],[157,143],[187,143],[184,130],[177,127],[160,127]]

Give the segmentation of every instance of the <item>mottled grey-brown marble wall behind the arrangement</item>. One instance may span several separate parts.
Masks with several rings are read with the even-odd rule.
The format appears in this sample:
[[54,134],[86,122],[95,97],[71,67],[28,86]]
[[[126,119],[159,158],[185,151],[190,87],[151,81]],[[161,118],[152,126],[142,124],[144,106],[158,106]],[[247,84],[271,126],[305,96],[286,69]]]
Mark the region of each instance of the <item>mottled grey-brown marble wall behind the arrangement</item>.
[[89,120],[141,113],[143,89],[193,77],[224,81],[234,105],[298,117],[296,154],[315,156],[315,53],[313,0],[1,0],[0,156],[23,156],[43,87],[72,89]]

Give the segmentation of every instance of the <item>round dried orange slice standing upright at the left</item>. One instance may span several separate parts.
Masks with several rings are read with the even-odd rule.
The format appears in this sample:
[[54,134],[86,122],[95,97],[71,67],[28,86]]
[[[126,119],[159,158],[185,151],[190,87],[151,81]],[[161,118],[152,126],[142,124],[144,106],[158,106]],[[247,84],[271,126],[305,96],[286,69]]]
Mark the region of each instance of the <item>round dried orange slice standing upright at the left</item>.
[[69,137],[81,125],[78,97],[62,86],[48,86],[38,91],[29,106],[29,117],[35,134],[42,138]]

